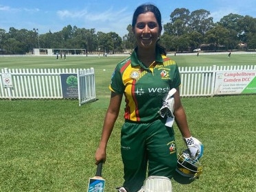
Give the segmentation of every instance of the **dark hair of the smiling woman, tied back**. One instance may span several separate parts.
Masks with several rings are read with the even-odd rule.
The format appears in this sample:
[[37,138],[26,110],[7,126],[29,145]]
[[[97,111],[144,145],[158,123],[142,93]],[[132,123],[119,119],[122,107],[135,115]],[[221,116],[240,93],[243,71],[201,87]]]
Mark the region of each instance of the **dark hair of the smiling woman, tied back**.
[[[155,5],[153,5],[151,3],[145,3],[145,4],[139,5],[139,7],[137,7],[137,9],[135,10],[135,12],[132,16],[132,29],[135,28],[139,14],[144,14],[146,12],[154,13],[154,16],[156,17],[156,21],[159,24],[159,34],[161,34],[162,29],[163,29],[161,12],[159,11],[159,8],[157,8]],[[159,48],[160,53],[162,53],[163,55],[166,56],[165,47],[159,45],[158,42],[156,43],[156,47]]]

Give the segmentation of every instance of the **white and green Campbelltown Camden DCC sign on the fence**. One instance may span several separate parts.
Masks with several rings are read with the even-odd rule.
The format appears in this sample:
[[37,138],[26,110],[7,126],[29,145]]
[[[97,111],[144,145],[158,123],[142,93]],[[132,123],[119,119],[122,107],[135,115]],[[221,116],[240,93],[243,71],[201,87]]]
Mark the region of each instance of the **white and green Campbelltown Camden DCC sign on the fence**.
[[216,95],[256,93],[256,71],[217,71]]

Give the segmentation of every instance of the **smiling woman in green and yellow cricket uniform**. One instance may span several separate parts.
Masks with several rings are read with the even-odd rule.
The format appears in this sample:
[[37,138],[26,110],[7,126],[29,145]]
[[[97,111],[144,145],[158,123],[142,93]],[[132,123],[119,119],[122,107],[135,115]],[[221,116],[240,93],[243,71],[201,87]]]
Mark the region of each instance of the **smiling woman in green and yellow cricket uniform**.
[[176,169],[174,130],[172,126],[167,127],[166,118],[159,115],[163,97],[172,88],[176,88],[173,96],[176,124],[183,137],[193,141],[179,95],[181,80],[178,67],[166,57],[165,49],[158,44],[162,31],[159,9],[152,4],[140,5],[133,15],[132,31],[137,47],[129,58],[117,64],[111,77],[110,104],[95,153],[96,165],[100,161],[105,162],[106,145],[124,95],[125,122],[121,128],[121,157],[124,163],[122,189],[128,192],[141,189],[147,168],[148,176],[167,178],[172,178]]

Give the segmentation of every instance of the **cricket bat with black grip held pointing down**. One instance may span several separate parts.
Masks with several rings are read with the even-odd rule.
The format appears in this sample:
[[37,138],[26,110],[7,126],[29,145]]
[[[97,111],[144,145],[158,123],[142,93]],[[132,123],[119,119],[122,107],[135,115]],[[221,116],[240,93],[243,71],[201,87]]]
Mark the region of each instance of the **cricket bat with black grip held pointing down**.
[[89,184],[87,192],[104,192],[105,180],[102,178],[102,165],[100,162],[97,165],[97,171],[93,178],[89,178]]

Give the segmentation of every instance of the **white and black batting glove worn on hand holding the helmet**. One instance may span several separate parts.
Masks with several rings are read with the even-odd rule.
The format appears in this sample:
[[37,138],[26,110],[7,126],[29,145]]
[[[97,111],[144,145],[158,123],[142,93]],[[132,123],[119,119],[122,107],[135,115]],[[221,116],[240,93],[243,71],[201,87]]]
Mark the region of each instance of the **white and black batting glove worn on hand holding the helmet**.
[[202,145],[202,143],[198,139],[192,136],[183,139],[187,145],[187,149],[189,150],[189,156],[197,160],[201,158],[204,152],[204,145]]

